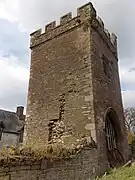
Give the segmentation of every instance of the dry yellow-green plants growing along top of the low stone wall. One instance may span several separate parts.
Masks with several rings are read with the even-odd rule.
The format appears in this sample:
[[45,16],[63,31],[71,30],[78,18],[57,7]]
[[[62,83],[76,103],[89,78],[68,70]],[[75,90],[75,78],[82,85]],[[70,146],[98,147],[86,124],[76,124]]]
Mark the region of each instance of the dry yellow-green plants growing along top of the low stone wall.
[[62,143],[47,144],[42,146],[21,145],[20,147],[3,148],[0,151],[0,165],[9,166],[16,162],[33,163],[44,159],[60,160],[70,159],[75,157],[84,148],[96,148],[94,143],[88,143],[87,139],[83,138],[76,141],[74,144],[67,146]]

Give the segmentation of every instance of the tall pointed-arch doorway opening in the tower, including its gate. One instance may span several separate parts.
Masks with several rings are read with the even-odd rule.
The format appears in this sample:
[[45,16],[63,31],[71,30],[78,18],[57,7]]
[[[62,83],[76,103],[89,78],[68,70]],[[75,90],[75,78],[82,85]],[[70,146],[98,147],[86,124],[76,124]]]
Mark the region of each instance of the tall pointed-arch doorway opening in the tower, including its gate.
[[124,164],[119,146],[120,141],[122,141],[121,128],[118,116],[112,108],[108,108],[105,114],[105,135],[109,165],[117,167]]

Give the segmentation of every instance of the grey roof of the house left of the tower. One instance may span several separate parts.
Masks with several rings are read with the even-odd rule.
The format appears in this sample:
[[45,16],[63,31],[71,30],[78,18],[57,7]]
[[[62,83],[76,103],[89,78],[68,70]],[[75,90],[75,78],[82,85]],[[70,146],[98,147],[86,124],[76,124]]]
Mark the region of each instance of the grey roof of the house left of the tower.
[[24,122],[19,119],[15,112],[2,109],[0,109],[0,124],[3,131],[9,133],[19,133],[24,127]]

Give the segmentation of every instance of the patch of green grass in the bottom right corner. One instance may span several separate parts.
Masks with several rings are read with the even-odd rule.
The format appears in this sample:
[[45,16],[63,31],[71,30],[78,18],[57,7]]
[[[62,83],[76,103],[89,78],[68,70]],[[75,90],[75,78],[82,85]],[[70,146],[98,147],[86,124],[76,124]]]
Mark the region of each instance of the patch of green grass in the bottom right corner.
[[135,180],[135,166],[114,169],[109,175],[104,175],[97,180]]

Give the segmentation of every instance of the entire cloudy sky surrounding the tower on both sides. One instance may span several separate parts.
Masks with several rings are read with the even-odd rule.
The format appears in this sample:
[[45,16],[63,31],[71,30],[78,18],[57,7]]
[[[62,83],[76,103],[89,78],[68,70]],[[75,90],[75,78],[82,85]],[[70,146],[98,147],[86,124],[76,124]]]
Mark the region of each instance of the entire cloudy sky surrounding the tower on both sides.
[[[0,108],[26,106],[29,33],[88,0],[0,0]],[[118,36],[119,69],[125,107],[135,106],[135,1],[93,0],[110,32]]]

